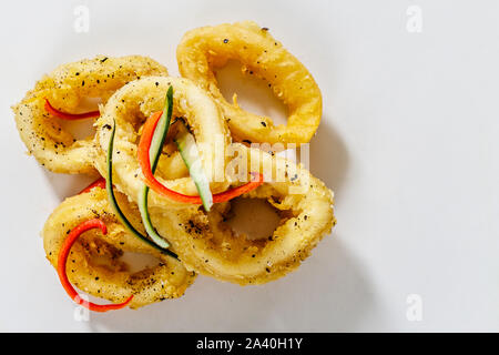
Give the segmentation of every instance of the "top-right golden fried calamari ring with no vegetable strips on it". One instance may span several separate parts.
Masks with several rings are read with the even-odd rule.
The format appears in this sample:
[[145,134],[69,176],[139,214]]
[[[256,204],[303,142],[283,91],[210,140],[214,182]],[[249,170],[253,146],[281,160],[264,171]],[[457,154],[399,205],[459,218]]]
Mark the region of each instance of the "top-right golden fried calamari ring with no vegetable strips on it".
[[[306,143],[318,128],[322,94],[312,74],[269,33],[255,22],[202,27],[183,37],[176,49],[182,77],[207,90],[222,106],[233,136],[266,143]],[[286,125],[274,125],[271,118],[242,110],[234,98],[222,95],[212,67],[238,60],[243,73],[266,80],[288,108]]]

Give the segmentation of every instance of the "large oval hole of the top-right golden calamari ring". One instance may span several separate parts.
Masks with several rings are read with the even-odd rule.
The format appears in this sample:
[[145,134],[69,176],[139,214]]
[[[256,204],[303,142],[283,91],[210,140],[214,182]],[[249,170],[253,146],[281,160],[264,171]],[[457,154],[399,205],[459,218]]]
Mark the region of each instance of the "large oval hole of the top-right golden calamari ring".
[[252,69],[237,60],[228,60],[223,67],[214,67],[213,71],[218,89],[228,103],[233,103],[236,93],[241,109],[271,118],[274,125],[287,123],[287,106],[274,94],[272,84],[255,75]]

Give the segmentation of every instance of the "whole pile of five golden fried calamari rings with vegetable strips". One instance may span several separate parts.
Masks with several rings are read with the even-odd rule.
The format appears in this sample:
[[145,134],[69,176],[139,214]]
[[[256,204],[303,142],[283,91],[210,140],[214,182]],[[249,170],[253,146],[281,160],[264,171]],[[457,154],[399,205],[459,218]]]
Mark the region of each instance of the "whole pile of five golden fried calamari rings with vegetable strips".
[[[336,223],[333,192],[320,180],[301,164],[244,144],[310,141],[322,94],[305,65],[251,21],[191,30],[176,55],[182,78],[140,55],[63,64],[12,106],[20,136],[42,166],[101,176],[65,199],[42,231],[64,290],[96,312],[180,297],[197,274],[241,285],[276,280],[296,270]],[[228,60],[268,83],[288,108],[286,125],[241,109],[235,97],[232,103],[224,99],[214,70]],[[89,99],[100,100],[99,108],[81,112]],[[75,139],[68,120],[93,120],[95,133]],[[154,158],[160,122],[170,130],[166,125]],[[196,169],[213,193],[211,207],[201,201],[193,168],[177,148],[182,128],[194,138]],[[142,215],[144,189],[162,246]],[[279,223],[272,235],[253,239],[228,226],[235,196],[275,209]],[[157,263],[132,271],[124,253],[149,254]],[[74,287],[111,303],[85,301]]]

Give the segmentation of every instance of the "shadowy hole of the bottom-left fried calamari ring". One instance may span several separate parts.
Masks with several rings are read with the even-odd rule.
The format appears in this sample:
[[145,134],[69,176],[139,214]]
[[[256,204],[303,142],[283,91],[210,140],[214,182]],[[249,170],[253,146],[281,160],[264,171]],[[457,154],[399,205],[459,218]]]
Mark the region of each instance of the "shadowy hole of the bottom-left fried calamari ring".
[[[141,271],[160,265],[161,261],[150,254],[123,251],[102,240],[99,232],[89,231],[82,234],[74,243],[83,251],[86,262],[95,268],[105,268],[112,272],[128,272],[135,274]],[[68,264],[71,263],[71,254]]]

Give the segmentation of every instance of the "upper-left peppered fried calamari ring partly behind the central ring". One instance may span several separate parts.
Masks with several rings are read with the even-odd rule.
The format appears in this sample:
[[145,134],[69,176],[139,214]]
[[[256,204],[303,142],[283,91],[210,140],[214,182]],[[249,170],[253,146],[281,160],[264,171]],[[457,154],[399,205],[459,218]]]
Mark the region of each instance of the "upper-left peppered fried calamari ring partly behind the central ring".
[[92,138],[75,140],[45,110],[45,99],[63,112],[73,112],[82,99],[100,98],[104,102],[129,81],[146,75],[167,75],[154,60],[129,55],[96,57],[60,65],[37,82],[33,90],[14,105],[16,123],[30,154],[57,173],[94,172]]

